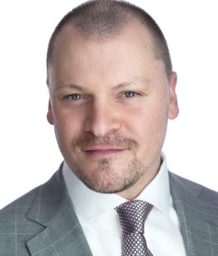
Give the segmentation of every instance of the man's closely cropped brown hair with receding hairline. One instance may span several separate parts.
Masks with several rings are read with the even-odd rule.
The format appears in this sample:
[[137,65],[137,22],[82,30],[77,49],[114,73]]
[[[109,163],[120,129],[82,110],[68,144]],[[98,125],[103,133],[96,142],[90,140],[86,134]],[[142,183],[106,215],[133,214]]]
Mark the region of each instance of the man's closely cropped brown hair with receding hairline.
[[[163,60],[168,80],[172,75],[172,61],[164,33],[154,19],[140,7],[130,2],[116,0],[95,0],[84,2],[73,8],[59,22],[52,33],[47,50],[47,70],[52,63],[55,39],[66,24],[72,24],[81,35],[97,41],[107,40],[121,33],[121,28],[133,19],[138,20],[153,36],[154,56]],[[48,83],[48,78],[47,78]]]

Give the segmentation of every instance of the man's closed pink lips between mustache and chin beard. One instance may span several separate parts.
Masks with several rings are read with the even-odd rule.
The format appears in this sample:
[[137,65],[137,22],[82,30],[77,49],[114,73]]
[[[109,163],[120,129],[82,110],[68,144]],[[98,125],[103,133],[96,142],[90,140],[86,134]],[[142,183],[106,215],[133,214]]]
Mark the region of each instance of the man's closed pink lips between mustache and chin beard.
[[118,147],[86,147],[83,152],[89,157],[107,157],[126,151],[126,148]]

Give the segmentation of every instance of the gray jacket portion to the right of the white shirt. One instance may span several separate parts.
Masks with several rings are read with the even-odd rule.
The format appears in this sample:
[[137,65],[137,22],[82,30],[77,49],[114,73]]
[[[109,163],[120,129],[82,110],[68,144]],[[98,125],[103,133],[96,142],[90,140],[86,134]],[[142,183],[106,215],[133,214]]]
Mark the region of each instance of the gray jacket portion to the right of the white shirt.
[[218,255],[217,199],[211,196],[210,200],[202,186],[172,173],[169,173],[169,181],[187,256]]

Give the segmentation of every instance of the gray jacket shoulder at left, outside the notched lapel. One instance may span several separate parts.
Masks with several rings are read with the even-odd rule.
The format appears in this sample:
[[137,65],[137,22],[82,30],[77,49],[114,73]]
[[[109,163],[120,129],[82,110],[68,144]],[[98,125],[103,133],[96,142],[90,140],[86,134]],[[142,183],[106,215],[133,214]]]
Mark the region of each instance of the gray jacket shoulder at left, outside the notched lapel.
[[0,210],[1,255],[12,255],[15,244],[19,255],[29,255],[26,251],[26,241],[42,230],[40,225],[26,218],[38,191],[40,186]]

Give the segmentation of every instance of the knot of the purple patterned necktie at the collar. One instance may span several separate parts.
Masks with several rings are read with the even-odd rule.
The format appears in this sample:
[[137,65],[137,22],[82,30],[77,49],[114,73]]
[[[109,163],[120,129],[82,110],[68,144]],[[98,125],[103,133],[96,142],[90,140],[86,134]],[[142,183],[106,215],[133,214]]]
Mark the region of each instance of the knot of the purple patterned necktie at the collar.
[[145,220],[153,205],[143,200],[133,200],[115,208],[119,215],[123,234],[144,234]]

